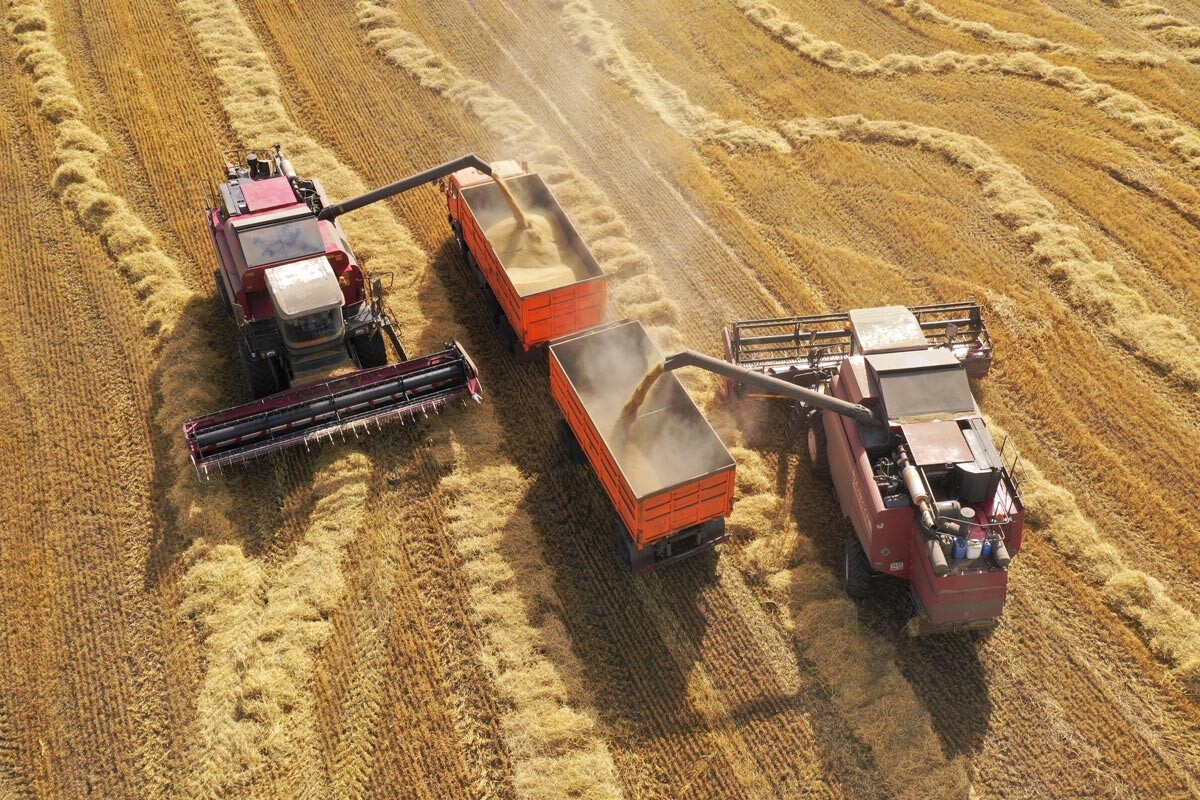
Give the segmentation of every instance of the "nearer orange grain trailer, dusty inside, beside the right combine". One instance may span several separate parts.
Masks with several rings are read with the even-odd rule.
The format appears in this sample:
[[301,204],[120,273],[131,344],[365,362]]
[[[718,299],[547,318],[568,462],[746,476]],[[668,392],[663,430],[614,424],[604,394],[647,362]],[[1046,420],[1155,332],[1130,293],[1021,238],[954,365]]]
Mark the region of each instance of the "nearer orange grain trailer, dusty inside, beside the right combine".
[[617,510],[618,549],[635,572],[724,541],[733,509],[733,458],[674,375],[659,377],[631,425],[618,421],[659,363],[662,354],[637,321],[550,345],[564,445],[599,476]]

